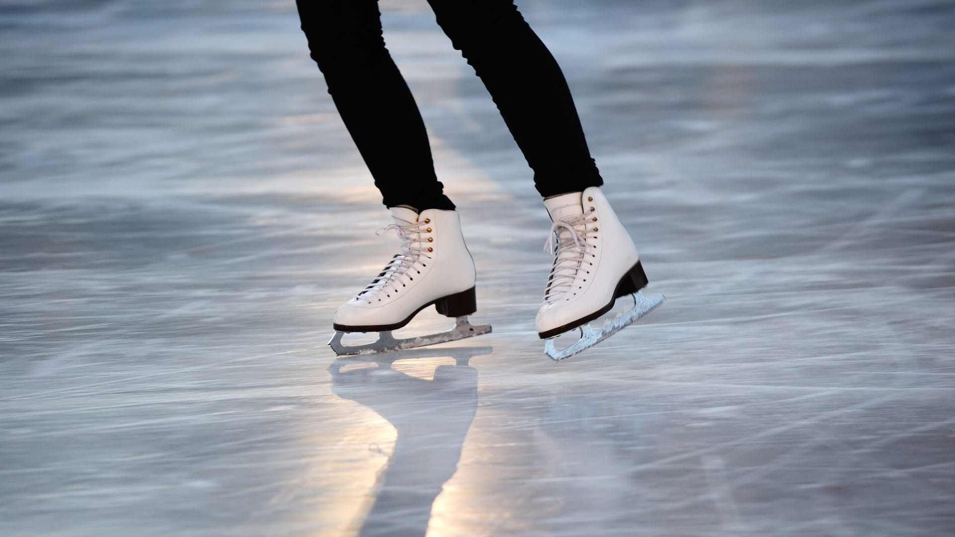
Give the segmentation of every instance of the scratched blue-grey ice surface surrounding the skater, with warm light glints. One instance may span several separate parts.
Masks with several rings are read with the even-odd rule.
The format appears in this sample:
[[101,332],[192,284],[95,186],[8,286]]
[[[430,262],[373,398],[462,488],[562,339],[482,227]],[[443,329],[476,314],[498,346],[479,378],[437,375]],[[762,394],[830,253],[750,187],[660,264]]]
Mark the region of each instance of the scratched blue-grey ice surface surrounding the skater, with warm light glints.
[[561,363],[424,0],[385,36],[494,333],[352,359],[397,242],[293,2],[0,1],[0,535],[955,534],[955,2],[518,4],[668,296]]

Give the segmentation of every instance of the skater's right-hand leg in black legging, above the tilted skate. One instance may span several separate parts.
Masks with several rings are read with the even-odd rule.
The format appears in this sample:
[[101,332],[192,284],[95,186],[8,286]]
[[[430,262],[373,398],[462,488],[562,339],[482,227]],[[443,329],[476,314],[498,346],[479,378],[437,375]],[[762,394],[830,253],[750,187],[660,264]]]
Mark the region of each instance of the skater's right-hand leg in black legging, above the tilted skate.
[[543,197],[603,184],[561,68],[513,0],[428,0],[475,68]]

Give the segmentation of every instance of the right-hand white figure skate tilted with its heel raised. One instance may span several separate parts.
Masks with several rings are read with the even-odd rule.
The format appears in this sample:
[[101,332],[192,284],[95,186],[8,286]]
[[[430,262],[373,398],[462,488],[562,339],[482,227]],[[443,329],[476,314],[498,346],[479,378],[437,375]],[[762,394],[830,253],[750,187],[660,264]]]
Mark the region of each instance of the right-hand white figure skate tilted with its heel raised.
[[[637,247],[598,186],[544,200],[553,221],[544,250],[554,254],[536,325],[544,353],[555,360],[578,354],[617,333],[664,301],[647,297],[647,275]],[[555,235],[556,241],[555,241]],[[556,242],[556,247],[555,247]],[[632,295],[633,308],[599,329],[589,322]],[[586,326],[582,326],[586,323]],[[580,329],[581,338],[558,350],[554,337]]]

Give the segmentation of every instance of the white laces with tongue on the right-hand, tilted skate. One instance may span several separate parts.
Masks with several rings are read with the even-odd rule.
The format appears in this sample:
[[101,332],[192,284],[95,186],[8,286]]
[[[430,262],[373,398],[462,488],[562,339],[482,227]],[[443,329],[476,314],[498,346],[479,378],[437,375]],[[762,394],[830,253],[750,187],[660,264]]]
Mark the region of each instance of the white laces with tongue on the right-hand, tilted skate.
[[[578,230],[578,226],[583,228],[583,233]],[[587,246],[584,215],[564,217],[550,226],[543,251],[554,255],[554,265],[550,269],[547,287],[543,291],[545,302],[555,302],[564,293],[574,289],[574,280],[584,266]]]

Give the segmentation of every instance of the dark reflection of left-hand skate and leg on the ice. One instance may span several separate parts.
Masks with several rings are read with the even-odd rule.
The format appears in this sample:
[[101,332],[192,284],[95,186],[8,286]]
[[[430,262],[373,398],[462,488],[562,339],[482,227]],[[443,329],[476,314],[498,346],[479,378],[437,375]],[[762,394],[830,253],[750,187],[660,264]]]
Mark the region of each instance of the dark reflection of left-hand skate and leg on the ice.
[[[469,362],[473,356],[492,352],[491,347],[415,349],[332,362],[332,392],[370,408],[397,433],[358,535],[427,532],[432,504],[441,486],[455,474],[477,410],[477,369]],[[431,379],[394,367],[398,361],[429,362],[444,356],[451,357],[453,364],[436,365]],[[358,360],[377,367],[347,369]]]

